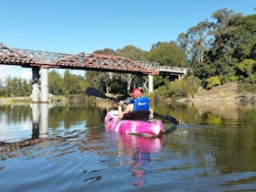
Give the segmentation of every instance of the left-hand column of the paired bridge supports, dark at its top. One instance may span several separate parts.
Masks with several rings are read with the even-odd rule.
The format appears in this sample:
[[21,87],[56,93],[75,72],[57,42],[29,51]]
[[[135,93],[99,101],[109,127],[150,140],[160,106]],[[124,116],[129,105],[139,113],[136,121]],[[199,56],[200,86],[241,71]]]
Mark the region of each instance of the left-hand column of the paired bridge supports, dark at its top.
[[39,102],[39,68],[32,68],[32,102]]

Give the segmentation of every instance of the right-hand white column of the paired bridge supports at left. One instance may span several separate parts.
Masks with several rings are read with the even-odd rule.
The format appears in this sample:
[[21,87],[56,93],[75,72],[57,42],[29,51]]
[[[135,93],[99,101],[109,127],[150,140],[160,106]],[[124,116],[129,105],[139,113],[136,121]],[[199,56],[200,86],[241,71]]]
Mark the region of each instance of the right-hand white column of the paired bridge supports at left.
[[41,68],[41,102],[48,102],[48,69]]

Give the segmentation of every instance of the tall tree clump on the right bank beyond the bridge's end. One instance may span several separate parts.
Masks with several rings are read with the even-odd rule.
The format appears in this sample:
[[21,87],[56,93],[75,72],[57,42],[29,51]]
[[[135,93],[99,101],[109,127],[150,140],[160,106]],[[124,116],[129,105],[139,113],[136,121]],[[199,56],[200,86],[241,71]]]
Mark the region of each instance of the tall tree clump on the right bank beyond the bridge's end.
[[255,60],[256,15],[241,16],[232,10],[220,9],[212,18],[216,22],[199,22],[177,38],[179,47],[187,53],[194,75],[207,89],[229,81],[248,80],[249,76],[254,84],[254,65],[251,69],[243,60]]

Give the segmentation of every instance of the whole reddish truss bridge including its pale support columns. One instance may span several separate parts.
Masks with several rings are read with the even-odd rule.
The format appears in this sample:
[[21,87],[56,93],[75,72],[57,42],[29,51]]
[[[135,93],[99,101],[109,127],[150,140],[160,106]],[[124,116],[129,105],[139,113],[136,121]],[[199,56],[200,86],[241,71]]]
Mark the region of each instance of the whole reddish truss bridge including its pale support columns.
[[[82,69],[148,75],[148,91],[153,91],[153,76],[167,73],[187,75],[188,69],[159,66],[156,62],[146,63],[118,56],[80,52],[64,54],[49,51],[9,48],[0,43],[0,65],[31,68],[33,73],[33,102],[48,102],[48,69]],[[39,73],[40,70],[40,73]],[[41,97],[41,98],[39,98]]]

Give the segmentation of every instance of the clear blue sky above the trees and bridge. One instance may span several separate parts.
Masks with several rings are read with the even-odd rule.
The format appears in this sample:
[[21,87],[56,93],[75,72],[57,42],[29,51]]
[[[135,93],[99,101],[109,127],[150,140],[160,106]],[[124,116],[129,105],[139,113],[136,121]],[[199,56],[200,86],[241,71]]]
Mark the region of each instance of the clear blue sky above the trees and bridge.
[[[127,45],[150,50],[222,8],[256,14],[255,0],[11,0],[0,7],[1,43],[70,54]],[[6,75],[31,76],[31,69],[0,70],[2,81]]]

